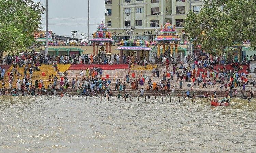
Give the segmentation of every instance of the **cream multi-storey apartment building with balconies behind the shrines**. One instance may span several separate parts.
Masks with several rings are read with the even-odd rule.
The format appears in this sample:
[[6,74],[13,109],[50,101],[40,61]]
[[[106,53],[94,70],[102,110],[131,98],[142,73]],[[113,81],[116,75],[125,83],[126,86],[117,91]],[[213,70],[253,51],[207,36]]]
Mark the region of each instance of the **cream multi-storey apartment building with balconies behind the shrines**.
[[[133,26],[134,39],[152,40],[156,29],[159,31],[169,20],[186,41],[183,24],[189,5],[189,0],[105,0],[105,24],[114,40],[130,39],[129,27]],[[195,13],[199,13],[202,6],[202,0],[191,0],[191,10]]]

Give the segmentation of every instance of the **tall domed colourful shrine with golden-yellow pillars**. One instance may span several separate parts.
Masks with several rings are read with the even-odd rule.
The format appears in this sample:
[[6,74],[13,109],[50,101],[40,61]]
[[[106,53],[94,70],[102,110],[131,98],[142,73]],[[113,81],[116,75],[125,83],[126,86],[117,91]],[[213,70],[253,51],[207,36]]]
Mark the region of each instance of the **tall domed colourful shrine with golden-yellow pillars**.
[[[157,56],[160,56],[160,46],[163,46],[162,53],[165,53],[166,50],[170,50],[170,54],[173,54],[173,46],[175,46],[175,56],[178,55],[178,41],[182,41],[178,35],[176,35],[175,26],[167,23],[164,26],[161,26],[160,35],[157,36]],[[167,48],[166,48],[167,47]]]

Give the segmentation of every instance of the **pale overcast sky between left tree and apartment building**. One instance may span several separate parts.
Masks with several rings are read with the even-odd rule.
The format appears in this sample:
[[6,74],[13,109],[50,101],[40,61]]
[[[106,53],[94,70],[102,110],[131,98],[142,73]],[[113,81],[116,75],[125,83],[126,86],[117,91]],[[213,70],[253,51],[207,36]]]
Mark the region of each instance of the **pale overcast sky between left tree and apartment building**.
[[[34,0],[46,6],[46,0]],[[105,22],[105,0],[90,0],[90,38],[97,25]],[[42,30],[45,30],[45,12],[42,14]],[[48,0],[48,30],[61,36],[73,37],[71,31],[77,31],[76,38],[86,33],[88,25],[88,0]]]

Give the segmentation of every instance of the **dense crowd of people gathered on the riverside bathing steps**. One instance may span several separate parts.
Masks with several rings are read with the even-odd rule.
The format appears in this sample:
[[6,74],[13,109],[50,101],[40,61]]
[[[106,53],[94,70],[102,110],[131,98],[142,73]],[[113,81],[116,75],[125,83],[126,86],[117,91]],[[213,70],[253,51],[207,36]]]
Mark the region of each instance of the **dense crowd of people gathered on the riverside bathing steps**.
[[[105,57],[107,58],[107,57]],[[136,58],[126,57],[123,55],[123,62],[128,61],[129,67],[131,63],[136,63],[141,66],[145,66],[148,64],[147,60],[144,61],[136,61]],[[60,72],[58,72],[58,64],[67,64],[67,63],[95,63],[96,57],[94,55],[89,54],[82,54],[82,55],[60,55],[60,56],[50,56],[50,55],[43,55],[38,53],[20,53],[20,55],[6,55],[5,57],[1,58],[1,62],[6,64],[12,64],[13,69],[10,72],[9,75],[9,88],[6,87],[5,82],[2,82],[1,87],[1,94],[5,94],[5,91],[8,91],[8,89],[12,89],[12,84],[14,82],[14,75],[17,75],[19,78],[17,79],[17,88],[14,88],[10,94],[22,94],[22,95],[42,95],[42,92],[47,92],[47,94],[55,95],[56,91],[56,85],[59,81],[60,84],[60,90],[61,92],[65,93],[66,90],[69,89],[69,84],[72,84],[71,90],[77,90],[77,94],[82,95],[90,95],[95,96],[98,94],[103,94],[105,96],[112,96],[112,90],[110,88],[111,81],[108,79],[101,79],[102,77],[102,69],[100,67],[93,67],[93,68],[86,68],[85,71],[80,72],[80,80],[73,79],[69,81],[67,79],[67,71],[63,73],[64,79],[58,80],[58,78],[52,75],[49,76],[48,81],[51,83],[48,85],[47,88],[45,88],[43,84],[43,80],[40,79],[39,81],[36,80],[34,83],[32,83],[31,78],[33,76],[33,71],[40,70],[39,67],[41,64],[51,64],[54,66],[54,69],[57,71],[57,75],[60,75]],[[127,60],[128,59],[128,60]],[[129,80],[130,76],[129,74],[126,75],[126,81],[121,81],[120,79],[116,79],[115,81],[115,90],[125,91],[127,89],[127,84],[132,90],[138,90],[139,86],[143,86],[144,82],[147,82],[147,89],[153,89],[153,90],[171,90],[171,82],[173,81],[173,76],[176,75],[177,79],[175,80],[176,83],[179,83],[180,88],[182,89],[182,84],[184,82],[188,82],[188,87],[191,86],[202,86],[206,88],[207,85],[215,85],[216,83],[221,83],[219,86],[220,89],[225,89],[227,91],[233,90],[235,93],[235,87],[240,87],[240,89],[245,90],[246,85],[253,85],[255,86],[255,81],[251,80],[245,81],[248,79],[248,75],[245,74],[245,72],[249,72],[250,68],[247,68],[245,72],[243,71],[243,67],[245,64],[250,63],[252,60],[256,60],[256,56],[251,56],[250,58],[247,56],[243,58],[243,61],[225,61],[224,56],[212,56],[211,54],[207,54],[205,58],[198,59],[198,57],[193,58],[194,62],[191,62],[191,57],[188,55],[185,57],[184,63],[188,64],[187,67],[183,66],[181,64],[180,67],[177,66],[177,62],[180,62],[180,57],[177,56],[174,58],[171,56],[171,58],[167,58],[166,54],[161,54],[159,57],[156,56],[156,63],[159,63],[159,61],[163,64],[163,66],[166,67],[166,72],[163,72],[162,79],[159,83],[152,82],[149,77],[146,77],[143,75],[142,78]],[[106,61],[110,61],[110,57],[107,59],[103,59],[103,63]],[[114,55],[114,64],[120,63],[120,56],[119,54]],[[108,62],[107,62],[108,63]],[[174,63],[172,68],[170,68],[170,64]],[[191,65],[190,65],[191,64]],[[218,69],[215,69],[216,64],[222,64],[223,67],[219,67]],[[231,69],[227,69],[226,66],[230,65]],[[17,67],[23,68],[23,72],[18,72]],[[195,68],[198,68],[197,72]],[[255,68],[256,73],[256,68]],[[5,68],[0,67],[0,79],[3,81],[4,75],[5,75]],[[159,78],[159,67],[156,66],[152,70],[153,77]],[[169,73],[170,78],[167,79],[167,74]],[[227,82],[224,82],[224,81]],[[53,82],[53,83],[52,83]],[[76,86],[76,89],[75,89]],[[173,86],[174,88],[177,87],[177,85]],[[256,86],[255,86],[256,87]],[[35,93],[36,89],[40,89],[38,93]]]

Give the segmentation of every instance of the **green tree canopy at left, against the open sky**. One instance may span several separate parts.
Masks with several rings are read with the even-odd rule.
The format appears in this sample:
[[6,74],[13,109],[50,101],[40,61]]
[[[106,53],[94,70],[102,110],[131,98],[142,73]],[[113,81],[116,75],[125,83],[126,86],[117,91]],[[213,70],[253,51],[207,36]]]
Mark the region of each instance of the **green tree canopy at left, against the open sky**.
[[33,0],[0,0],[0,55],[31,46],[33,32],[42,29],[44,7]]

